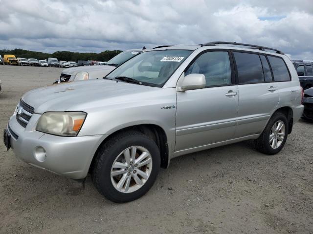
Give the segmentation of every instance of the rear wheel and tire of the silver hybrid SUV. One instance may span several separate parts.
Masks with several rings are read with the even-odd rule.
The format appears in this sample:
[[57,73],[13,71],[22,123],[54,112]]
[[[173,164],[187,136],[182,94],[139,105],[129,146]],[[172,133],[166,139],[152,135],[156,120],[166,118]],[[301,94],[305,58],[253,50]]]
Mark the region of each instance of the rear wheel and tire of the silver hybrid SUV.
[[287,140],[288,127],[287,117],[280,112],[274,113],[263,133],[255,140],[256,149],[267,155],[280,152]]

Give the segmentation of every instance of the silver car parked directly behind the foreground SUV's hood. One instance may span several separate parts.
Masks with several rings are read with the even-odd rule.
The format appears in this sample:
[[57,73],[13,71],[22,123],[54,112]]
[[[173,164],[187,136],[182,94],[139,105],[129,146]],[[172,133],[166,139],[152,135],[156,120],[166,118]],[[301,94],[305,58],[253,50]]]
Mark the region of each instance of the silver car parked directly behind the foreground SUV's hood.
[[[88,67],[76,67],[76,68],[68,68],[62,71],[61,76],[55,83],[74,81],[74,80],[87,80],[87,79],[96,79],[103,78],[109,72],[114,70],[123,62],[133,58],[137,54],[139,54],[142,49],[135,50],[126,50],[111,60],[108,61],[107,66],[89,66]],[[86,61],[88,62],[88,61]],[[78,66],[80,61],[78,61]]]

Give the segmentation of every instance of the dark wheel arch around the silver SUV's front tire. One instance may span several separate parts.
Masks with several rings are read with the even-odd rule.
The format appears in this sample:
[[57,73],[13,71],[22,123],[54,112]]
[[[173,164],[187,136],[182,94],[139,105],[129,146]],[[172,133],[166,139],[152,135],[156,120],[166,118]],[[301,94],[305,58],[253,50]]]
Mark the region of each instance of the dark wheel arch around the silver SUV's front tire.
[[169,164],[169,147],[167,144],[167,136],[162,127],[156,124],[138,124],[133,126],[124,127],[118,130],[115,130],[112,132],[108,137],[106,137],[98,146],[96,152],[93,155],[93,158],[91,160],[90,166],[89,166],[89,172],[90,169],[93,167],[95,156],[97,155],[98,151],[102,147],[103,144],[105,144],[107,141],[111,140],[112,137],[126,131],[137,131],[140,133],[143,133],[144,135],[151,138],[153,141],[156,142],[156,145],[158,146],[160,150],[160,156],[161,156],[161,167],[167,168]]

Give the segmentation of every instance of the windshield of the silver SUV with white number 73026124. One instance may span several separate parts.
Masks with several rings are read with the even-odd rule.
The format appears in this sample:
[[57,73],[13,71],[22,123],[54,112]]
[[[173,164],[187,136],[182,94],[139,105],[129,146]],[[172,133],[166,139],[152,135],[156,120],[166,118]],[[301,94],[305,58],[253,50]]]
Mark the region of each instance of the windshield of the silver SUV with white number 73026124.
[[190,50],[143,52],[113,70],[106,78],[126,77],[143,84],[162,87],[191,53]]

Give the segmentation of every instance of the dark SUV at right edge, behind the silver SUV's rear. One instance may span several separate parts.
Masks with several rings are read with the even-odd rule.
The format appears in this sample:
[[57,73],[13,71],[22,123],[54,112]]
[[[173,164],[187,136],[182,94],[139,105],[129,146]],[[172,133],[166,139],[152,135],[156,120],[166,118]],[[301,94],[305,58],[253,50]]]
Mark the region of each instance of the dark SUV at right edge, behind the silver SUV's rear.
[[313,87],[313,62],[292,60],[292,63],[297,71],[302,88],[309,89]]

